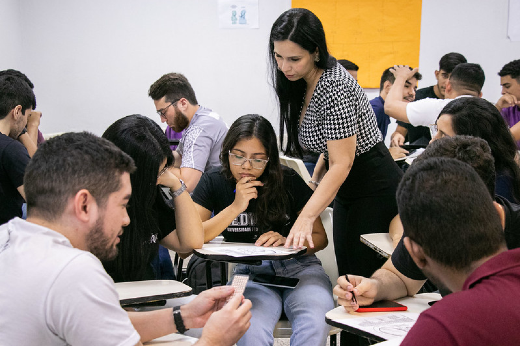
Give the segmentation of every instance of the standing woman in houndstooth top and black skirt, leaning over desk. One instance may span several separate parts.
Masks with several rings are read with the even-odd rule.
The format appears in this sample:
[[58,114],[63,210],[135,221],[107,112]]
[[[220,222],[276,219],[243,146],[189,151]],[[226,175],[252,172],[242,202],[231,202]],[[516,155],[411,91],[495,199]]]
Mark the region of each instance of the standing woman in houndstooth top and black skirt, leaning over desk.
[[[334,246],[339,274],[370,276],[383,261],[360,242],[388,232],[397,215],[402,176],[377,128],[368,98],[329,55],[323,26],[311,11],[293,8],[273,24],[269,38],[273,85],[280,106],[280,143],[288,155],[302,148],[323,153],[315,188],[285,246],[312,247],[314,220],[334,199]],[[283,144],[282,144],[283,145]]]

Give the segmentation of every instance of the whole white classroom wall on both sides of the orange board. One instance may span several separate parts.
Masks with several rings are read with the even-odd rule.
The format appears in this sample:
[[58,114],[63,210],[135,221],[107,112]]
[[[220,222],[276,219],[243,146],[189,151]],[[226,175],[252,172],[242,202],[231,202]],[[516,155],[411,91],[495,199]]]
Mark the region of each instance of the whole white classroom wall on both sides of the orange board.
[[[101,134],[132,113],[159,121],[147,91],[171,71],[184,73],[199,102],[228,124],[252,112],[276,124],[267,43],[272,23],[291,1],[260,0],[255,30],[219,29],[217,3],[0,0],[0,69],[22,70],[34,82],[44,133]],[[520,57],[520,43],[506,36],[507,9],[508,0],[423,0],[420,87],[434,84],[440,57],[457,51],[482,65],[484,97],[496,101],[496,73]],[[378,91],[367,93],[371,99]]]

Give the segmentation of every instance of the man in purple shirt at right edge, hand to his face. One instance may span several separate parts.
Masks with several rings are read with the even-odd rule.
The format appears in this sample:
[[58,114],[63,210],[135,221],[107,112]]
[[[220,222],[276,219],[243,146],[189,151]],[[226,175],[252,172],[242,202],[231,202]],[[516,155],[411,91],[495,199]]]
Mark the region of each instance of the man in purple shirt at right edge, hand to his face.
[[[502,113],[504,120],[513,127],[520,121],[520,59],[513,60],[502,67],[498,73],[502,86],[502,97],[496,103],[496,107]],[[511,130],[520,149],[520,136]]]

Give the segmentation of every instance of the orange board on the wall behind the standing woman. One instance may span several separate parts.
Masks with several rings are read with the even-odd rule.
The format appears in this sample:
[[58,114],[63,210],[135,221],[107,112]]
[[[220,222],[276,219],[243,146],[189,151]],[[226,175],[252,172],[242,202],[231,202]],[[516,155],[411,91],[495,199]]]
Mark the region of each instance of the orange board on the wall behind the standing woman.
[[419,65],[422,0],[292,0],[318,16],[330,53],[359,66],[358,82],[379,88],[395,64]]

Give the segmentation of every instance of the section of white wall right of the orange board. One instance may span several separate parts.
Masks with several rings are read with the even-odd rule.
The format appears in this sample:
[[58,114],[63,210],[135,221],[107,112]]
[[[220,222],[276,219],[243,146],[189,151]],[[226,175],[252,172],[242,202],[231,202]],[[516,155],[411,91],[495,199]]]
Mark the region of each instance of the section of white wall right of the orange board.
[[520,59],[520,42],[507,38],[508,0],[423,0],[420,85],[435,84],[434,72],[442,55],[463,54],[486,73],[483,97],[495,103],[501,96],[497,73]]

